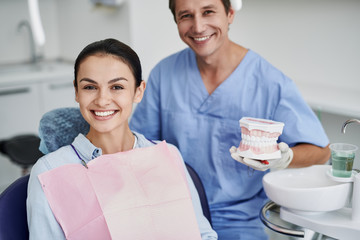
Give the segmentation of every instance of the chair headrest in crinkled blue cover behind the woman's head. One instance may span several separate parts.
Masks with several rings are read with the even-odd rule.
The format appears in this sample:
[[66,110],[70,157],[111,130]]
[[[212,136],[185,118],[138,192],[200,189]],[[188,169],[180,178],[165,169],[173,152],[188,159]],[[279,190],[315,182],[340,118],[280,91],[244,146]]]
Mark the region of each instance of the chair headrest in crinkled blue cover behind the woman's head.
[[74,138],[89,132],[89,124],[81,115],[79,108],[58,108],[45,113],[39,125],[40,147],[44,153],[53,152],[69,145]]

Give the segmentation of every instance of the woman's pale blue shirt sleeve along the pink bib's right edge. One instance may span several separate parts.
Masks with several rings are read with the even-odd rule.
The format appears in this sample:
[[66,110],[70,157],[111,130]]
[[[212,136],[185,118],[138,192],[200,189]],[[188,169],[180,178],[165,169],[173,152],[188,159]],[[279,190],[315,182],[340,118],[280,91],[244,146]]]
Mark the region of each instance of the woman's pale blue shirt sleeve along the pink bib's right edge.
[[203,214],[199,194],[196,190],[196,187],[194,185],[194,182],[192,181],[192,178],[191,178],[189,172],[187,171],[187,168],[185,166],[185,163],[183,161],[183,158],[181,157],[179,150],[174,145],[169,144],[169,146],[176,149],[176,151],[179,153],[179,157],[182,160],[186,179],[187,179],[190,194],[191,194],[192,204],[193,204],[195,215],[196,215],[196,221],[199,225],[199,230],[201,233],[201,239],[202,240],[218,239],[217,233],[212,229],[209,221]]

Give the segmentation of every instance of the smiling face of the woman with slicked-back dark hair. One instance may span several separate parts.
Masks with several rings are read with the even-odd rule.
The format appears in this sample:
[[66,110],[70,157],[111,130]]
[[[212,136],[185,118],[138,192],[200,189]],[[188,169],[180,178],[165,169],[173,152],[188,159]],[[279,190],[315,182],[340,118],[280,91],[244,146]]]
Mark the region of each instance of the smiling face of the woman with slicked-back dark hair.
[[89,56],[77,73],[76,101],[90,131],[106,133],[128,127],[133,103],[141,101],[143,84],[119,58],[112,55]]

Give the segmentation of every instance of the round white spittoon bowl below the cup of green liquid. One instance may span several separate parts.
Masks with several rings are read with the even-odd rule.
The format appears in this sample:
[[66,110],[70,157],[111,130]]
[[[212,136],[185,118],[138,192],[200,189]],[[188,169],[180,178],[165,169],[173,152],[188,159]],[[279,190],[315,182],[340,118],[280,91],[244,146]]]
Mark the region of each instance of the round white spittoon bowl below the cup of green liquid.
[[266,195],[276,204],[297,211],[327,212],[343,208],[352,183],[335,182],[326,172],[329,165],[284,169],[263,178]]

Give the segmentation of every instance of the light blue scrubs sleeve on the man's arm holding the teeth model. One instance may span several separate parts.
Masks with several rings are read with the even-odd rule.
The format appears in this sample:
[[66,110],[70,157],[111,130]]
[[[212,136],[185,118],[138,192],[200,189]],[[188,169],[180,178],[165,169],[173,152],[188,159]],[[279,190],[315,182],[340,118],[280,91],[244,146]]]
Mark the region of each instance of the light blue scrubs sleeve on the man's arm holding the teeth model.
[[297,143],[309,143],[325,147],[329,139],[320,120],[305,102],[292,81],[281,84],[280,100],[275,110],[274,120],[285,123],[279,140],[290,147]]

